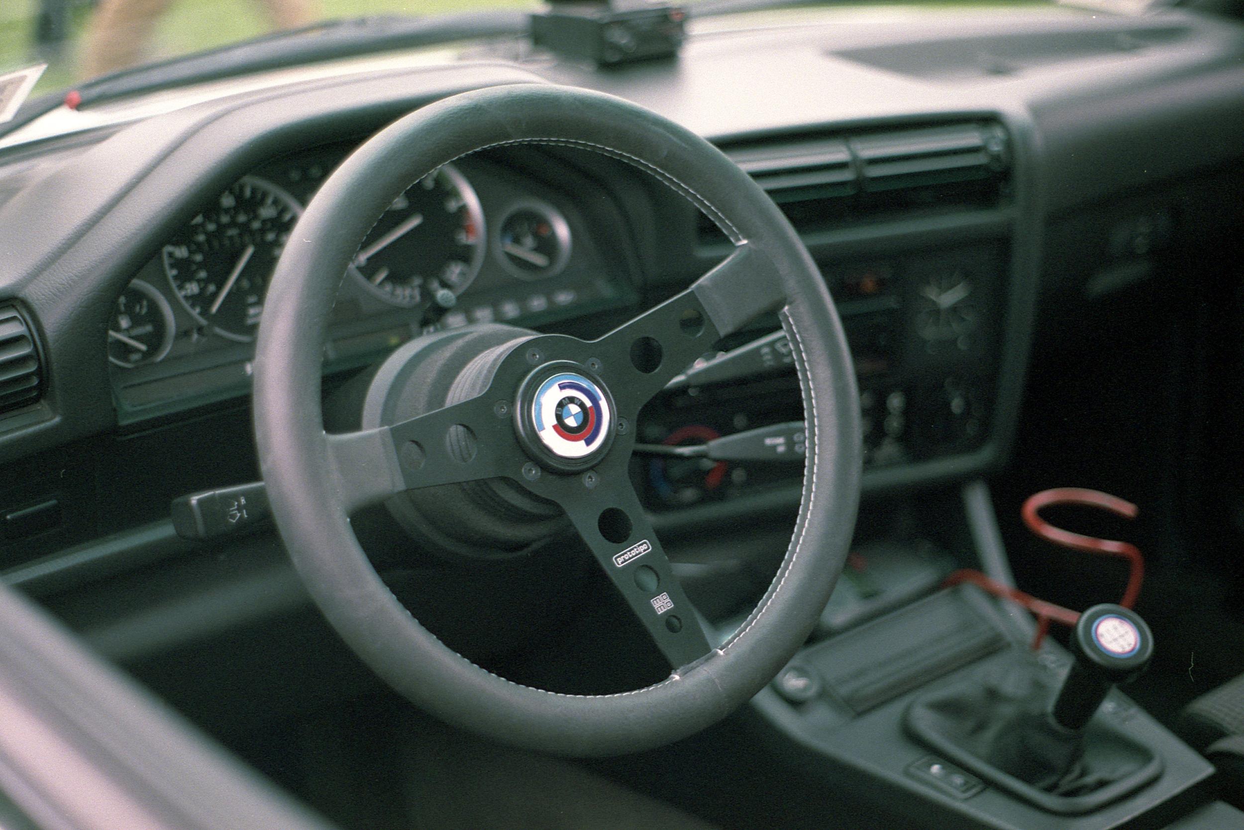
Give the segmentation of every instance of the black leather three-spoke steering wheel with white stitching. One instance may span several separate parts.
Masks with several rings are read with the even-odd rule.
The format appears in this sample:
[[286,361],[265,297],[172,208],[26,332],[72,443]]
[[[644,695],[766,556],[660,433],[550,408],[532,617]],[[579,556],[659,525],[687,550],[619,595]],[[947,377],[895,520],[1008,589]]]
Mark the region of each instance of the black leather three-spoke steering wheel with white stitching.
[[[321,355],[333,300],[361,241],[412,183],[470,153],[515,144],[580,148],[632,164],[707,213],[734,251],[687,290],[598,340],[515,329],[513,337],[480,347],[447,406],[326,434]],[[802,501],[773,584],[717,645],[644,515],[628,459],[639,408],[722,337],[771,311],[790,338],[804,396]],[[417,706],[537,750],[637,752],[698,732],[748,701],[812,630],[855,524],[858,393],[816,265],[776,205],[720,151],[606,95],[535,83],[491,87],[425,106],[363,143],[311,199],[285,246],[260,324],[254,396],[272,514],[330,623]],[[490,479],[565,510],[668,660],[668,678],[601,696],[521,686],[452,651],[393,596],[351,530],[350,514],[417,488]]]

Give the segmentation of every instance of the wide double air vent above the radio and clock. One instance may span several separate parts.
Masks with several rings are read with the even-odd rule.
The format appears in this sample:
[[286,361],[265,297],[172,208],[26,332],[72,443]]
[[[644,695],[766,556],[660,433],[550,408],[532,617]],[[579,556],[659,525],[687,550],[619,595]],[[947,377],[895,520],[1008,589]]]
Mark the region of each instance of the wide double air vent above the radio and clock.
[[[1010,194],[1006,131],[988,121],[805,134],[723,149],[801,234],[988,210]],[[726,240],[702,215],[699,241]]]

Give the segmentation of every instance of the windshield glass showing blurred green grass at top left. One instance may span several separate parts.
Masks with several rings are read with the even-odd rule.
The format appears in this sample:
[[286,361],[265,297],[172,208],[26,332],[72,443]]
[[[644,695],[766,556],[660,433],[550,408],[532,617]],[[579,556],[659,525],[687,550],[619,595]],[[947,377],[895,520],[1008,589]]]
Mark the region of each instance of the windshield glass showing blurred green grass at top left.
[[[1040,0],[914,0],[921,6]],[[841,0],[835,5],[899,5]],[[35,93],[118,70],[246,41],[266,32],[369,15],[535,10],[539,0],[0,0],[0,71],[46,62]]]

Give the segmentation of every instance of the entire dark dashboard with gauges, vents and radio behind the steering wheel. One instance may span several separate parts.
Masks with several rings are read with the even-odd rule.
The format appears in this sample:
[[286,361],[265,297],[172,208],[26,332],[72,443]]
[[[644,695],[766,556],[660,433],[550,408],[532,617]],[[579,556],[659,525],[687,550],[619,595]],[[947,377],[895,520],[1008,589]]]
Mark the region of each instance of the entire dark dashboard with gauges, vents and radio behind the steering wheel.
[[[253,337],[297,214],[386,123],[503,83],[651,107],[774,197],[847,330],[867,495],[1000,468],[1042,307],[1238,229],[1222,184],[1237,180],[1244,134],[1238,26],[1067,9],[826,15],[697,24],[677,62],[611,72],[505,42],[438,65],[355,58],[203,85],[187,91],[193,106],[169,95],[58,112],[6,137],[0,306],[26,348],[21,397],[0,413],[0,464],[21,483],[0,492],[7,561],[254,480]],[[984,54],[989,71],[964,57]],[[728,253],[690,204],[613,159],[460,159],[412,183],[342,275],[326,394],[429,329],[597,337]],[[759,320],[722,348],[776,329]],[[782,343],[764,360],[771,371],[659,396],[644,441],[797,421]],[[667,458],[632,473],[671,528],[789,510],[801,468]]]

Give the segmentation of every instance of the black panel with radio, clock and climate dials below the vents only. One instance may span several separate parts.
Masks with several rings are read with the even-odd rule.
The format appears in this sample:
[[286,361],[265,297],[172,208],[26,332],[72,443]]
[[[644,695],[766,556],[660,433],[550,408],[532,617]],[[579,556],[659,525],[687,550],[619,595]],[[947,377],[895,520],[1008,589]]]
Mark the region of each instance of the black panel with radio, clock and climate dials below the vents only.
[[[991,441],[1006,261],[1008,246],[996,241],[820,263],[860,383],[866,487],[870,470],[918,478],[919,469],[973,457]],[[698,444],[802,418],[785,332],[758,329],[728,346],[725,357],[707,356],[644,409],[644,443]],[[795,488],[802,477],[801,468],[765,462],[659,458],[639,473],[654,510]]]

